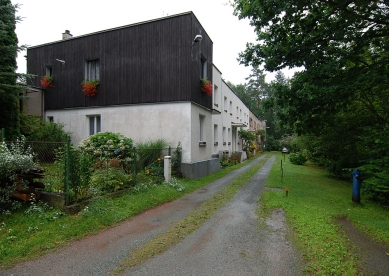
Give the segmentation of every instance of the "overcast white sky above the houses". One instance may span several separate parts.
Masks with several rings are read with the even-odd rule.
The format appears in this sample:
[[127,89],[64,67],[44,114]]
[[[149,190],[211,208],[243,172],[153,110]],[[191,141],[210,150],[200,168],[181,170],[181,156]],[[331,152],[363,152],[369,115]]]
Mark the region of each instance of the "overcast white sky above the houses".
[[[16,26],[19,44],[40,45],[62,39],[69,30],[73,36],[84,35],[166,15],[193,11],[213,41],[213,63],[226,81],[247,82],[251,67],[240,65],[238,54],[247,42],[255,42],[254,28],[248,20],[233,15],[228,0],[12,0],[21,7],[23,21]],[[19,53],[18,72],[26,72]],[[291,77],[291,73],[284,72]],[[267,81],[274,74],[267,73]]]

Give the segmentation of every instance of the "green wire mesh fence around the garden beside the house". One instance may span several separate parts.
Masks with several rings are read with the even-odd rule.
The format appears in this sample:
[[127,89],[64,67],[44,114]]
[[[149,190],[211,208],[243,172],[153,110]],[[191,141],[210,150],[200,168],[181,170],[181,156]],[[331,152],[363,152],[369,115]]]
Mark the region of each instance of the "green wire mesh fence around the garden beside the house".
[[[8,147],[21,143],[6,142]],[[101,194],[131,188],[138,181],[162,181],[163,157],[181,163],[175,148],[129,150],[81,150],[69,142],[24,142],[34,152],[34,161],[43,168],[43,191],[61,193],[65,205]]]

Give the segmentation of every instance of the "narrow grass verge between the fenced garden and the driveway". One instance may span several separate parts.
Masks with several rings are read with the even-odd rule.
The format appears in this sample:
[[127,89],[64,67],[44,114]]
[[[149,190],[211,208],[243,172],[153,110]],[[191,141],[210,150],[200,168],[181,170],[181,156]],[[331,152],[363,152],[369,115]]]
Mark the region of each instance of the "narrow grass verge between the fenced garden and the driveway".
[[[248,162],[252,160],[254,158]],[[0,269],[37,258],[57,247],[68,245],[71,241],[97,234],[140,212],[197,190],[246,164],[247,162],[237,164],[197,180],[180,179],[180,184],[185,187],[183,192],[166,185],[157,185],[144,192],[126,193],[117,198],[102,197],[92,201],[88,205],[88,211],[82,211],[78,215],[66,215],[57,210],[41,211],[39,208],[31,215],[26,215],[28,206],[14,212],[12,216],[1,215]]]

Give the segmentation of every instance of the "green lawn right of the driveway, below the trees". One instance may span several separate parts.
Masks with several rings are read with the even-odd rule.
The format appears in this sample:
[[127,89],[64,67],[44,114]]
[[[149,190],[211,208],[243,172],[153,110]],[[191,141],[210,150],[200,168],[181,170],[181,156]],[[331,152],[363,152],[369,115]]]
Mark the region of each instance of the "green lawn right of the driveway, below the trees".
[[286,160],[281,182],[281,158],[277,155],[266,186],[283,191],[263,194],[262,215],[274,208],[285,210],[294,242],[307,261],[306,273],[357,275],[358,261],[335,219],[347,217],[375,240],[389,244],[389,210],[364,199],[363,194],[360,204],[352,202],[351,182],[331,178],[313,164],[298,166]]

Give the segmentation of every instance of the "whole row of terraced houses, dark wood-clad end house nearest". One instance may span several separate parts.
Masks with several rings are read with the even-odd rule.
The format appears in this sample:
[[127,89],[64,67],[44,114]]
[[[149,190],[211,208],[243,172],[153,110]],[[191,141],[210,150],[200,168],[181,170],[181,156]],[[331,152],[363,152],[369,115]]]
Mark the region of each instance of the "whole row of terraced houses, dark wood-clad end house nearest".
[[[38,76],[23,102],[28,114],[63,123],[73,144],[100,131],[180,142],[188,178],[242,152],[240,128],[265,129],[213,64],[213,42],[192,12],[77,37],[65,31],[60,41],[28,48],[27,70]],[[43,89],[41,76],[54,87]],[[96,95],[82,92],[85,79],[99,80]],[[212,95],[200,79],[211,81]]]

